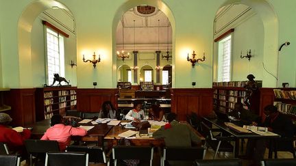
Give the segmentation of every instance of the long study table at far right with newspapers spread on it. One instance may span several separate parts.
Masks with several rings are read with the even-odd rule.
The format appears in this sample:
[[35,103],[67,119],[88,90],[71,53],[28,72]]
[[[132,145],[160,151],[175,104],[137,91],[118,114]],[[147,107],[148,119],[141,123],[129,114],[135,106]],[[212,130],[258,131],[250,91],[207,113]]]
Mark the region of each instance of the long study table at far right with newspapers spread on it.
[[[214,124],[214,126],[217,126],[218,128],[221,128],[226,133],[229,133],[235,138],[235,150],[234,150],[234,157],[238,157],[238,148],[239,148],[239,139],[268,139],[269,140],[269,146],[271,146],[273,139],[280,138],[280,135],[258,135],[253,132],[249,133],[240,133],[236,130],[233,130],[232,128],[225,125],[225,120],[219,120],[219,119],[210,119],[207,117],[204,117],[204,120],[207,122],[210,122],[211,124]],[[234,124],[237,124],[240,126],[239,122],[233,122]],[[269,150],[269,158],[272,156],[272,150]]]

